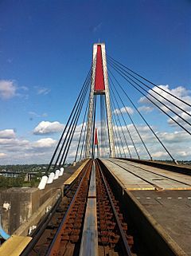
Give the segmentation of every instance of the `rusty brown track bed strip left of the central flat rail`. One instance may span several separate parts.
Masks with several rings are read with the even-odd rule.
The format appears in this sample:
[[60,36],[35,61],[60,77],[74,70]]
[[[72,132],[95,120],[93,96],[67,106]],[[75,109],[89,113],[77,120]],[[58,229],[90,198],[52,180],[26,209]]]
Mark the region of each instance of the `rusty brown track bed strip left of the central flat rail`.
[[66,211],[64,218],[62,219],[60,226],[54,235],[53,241],[51,242],[49,250],[46,254],[47,256],[68,255],[68,243],[70,246],[69,250],[71,250],[70,243],[75,245],[75,243],[80,242],[80,233],[82,232],[83,228],[83,219],[88,197],[88,183],[90,180],[91,170],[92,161],[88,164],[87,170],[84,172],[68,210]]

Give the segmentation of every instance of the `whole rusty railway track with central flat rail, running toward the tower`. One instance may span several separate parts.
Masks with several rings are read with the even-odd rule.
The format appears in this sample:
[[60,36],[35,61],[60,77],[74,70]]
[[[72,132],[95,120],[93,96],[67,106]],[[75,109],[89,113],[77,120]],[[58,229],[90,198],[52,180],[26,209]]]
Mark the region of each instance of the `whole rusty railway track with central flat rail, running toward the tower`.
[[98,160],[89,160],[21,256],[137,255],[134,238]]

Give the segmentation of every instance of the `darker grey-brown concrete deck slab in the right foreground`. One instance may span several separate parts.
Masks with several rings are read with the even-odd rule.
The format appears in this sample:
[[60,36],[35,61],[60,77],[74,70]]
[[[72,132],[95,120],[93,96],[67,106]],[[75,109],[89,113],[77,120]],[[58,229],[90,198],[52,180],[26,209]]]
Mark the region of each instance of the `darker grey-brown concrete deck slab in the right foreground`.
[[166,233],[191,255],[191,191],[131,191]]

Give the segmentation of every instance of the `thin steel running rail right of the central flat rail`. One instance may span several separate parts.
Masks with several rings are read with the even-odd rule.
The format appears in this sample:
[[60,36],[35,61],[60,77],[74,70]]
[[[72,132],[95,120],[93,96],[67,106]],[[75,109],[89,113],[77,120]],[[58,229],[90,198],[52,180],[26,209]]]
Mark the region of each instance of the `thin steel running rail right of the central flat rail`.
[[96,160],[96,163],[98,164],[99,171],[100,171],[100,174],[102,176],[103,183],[104,183],[104,186],[106,188],[109,201],[111,203],[111,208],[112,208],[112,211],[113,211],[114,216],[115,216],[115,221],[116,221],[116,223],[117,223],[117,225],[119,227],[119,233],[121,235],[121,238],[122,238],[122,241],[123,241],[123,246],[124,246],[124,248],[123,248],[124,254],[123,255],[124,256],[132,256],[130,246],[128,245],[128,242],[127,242],[126,234],[123,231],[123,227],[122,227],[122,225],[121,225],[121,223],[119,221],[118,213],[115,210],[115,205],[114,205],[114,203],[113,203],[113,201],[111,199],[111,194],[110,194],[110,191],[108,190],[107,183],[106,183],[106,180],[105,180],[104,175],[103,175],[103,171],[101,170],[101,167],[100,167],[99,162],[97,160]]

